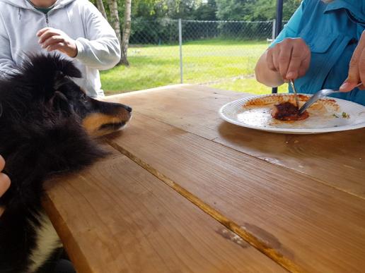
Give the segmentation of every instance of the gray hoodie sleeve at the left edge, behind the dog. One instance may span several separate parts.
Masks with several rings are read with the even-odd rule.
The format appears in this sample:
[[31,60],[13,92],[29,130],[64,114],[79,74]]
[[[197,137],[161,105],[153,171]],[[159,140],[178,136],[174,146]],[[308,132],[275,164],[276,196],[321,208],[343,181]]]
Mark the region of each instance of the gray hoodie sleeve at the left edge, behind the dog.
[[3,18],[0,16],[0,75],[12,71],[15,63],[11,59],[11,48]]

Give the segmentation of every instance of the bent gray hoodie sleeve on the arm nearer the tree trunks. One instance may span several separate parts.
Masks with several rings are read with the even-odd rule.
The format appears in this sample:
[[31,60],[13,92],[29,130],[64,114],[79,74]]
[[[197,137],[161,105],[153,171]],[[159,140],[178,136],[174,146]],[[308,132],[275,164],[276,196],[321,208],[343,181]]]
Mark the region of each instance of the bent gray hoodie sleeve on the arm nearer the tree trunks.
[[88,67],[105,70],[120,61],[120,43],[115,31],[93,4],[83,4],[86,38],[76,39],[78,54],[75,57]]

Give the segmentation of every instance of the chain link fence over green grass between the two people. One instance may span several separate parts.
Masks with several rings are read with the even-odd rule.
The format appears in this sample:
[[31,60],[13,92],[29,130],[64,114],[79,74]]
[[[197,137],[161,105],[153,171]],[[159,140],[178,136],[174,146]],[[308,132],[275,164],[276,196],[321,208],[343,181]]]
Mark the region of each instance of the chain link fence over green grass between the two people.
[[273,29],[272,20],[133,20],[130,66],[118,68],[117,80],[113,76],[120,86],[109,87],[105,80],[103,87],[110,94],[195,83],[250,92],[243,87],[255,82],[255,63],[270,44]]

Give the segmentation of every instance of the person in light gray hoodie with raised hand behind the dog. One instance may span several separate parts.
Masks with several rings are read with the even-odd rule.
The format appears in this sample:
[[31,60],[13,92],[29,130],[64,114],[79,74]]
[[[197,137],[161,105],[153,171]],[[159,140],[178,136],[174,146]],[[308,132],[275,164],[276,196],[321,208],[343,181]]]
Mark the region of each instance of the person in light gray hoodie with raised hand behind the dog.
[[91,97],[103,96],[99,70],[120,61],[115,31],[88,0],[0,0],[0,75],[29,54],[58,51],[74,59]]

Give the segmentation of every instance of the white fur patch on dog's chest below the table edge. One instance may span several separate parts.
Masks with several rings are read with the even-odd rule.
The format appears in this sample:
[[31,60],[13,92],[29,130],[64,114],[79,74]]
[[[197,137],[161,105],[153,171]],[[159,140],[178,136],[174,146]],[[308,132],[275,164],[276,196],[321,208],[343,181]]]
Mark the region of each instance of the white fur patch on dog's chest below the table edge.
[[28,268],[28,272],[37,271],[37,269],[45,263],[56,248],[62,247],[62,244],[59,241],[59,236],[54,230],[54,227],[47,215],[42,212],[40,213],[40,217],[37,217],[37,219],[41,223],[41,226],[36,227],[33,225],[36,232],[36,247],[30,254],[30,261],[32,263]]

